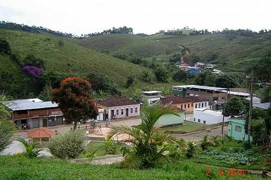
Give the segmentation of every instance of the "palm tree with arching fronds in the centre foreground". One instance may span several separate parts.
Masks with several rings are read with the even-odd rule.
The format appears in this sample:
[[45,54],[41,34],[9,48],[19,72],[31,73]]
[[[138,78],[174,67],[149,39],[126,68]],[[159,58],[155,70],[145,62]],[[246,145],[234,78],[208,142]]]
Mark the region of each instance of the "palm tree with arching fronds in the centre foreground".
[[156,125],[157,120],[165,114],[175,114],[170,109],[164,109],[159,103],[149,105],[147,102],[142,106],[141,125],[135,127],[129,126],[112,126],[108,138],[116,134],[128,134],[132,144],[131,149],[124,150],[123,167],[127,168],[148,168],[155,165],[163,165],[171,162],[165,151],[170,150],[173,145],[180,144],[172,134],[159,131]]

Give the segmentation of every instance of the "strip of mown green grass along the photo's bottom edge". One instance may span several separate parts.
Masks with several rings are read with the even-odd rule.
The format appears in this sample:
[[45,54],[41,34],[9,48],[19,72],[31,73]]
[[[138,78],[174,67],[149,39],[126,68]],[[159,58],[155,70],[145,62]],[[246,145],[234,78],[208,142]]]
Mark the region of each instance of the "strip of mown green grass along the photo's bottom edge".
[[[191,163],[168,164],[146,170],[121,169],[118,164],[94,166],[70,163],[53,158],[29,159],[18,156],[0,156],[0,180],[228,180],[218,175],[218,169]],[[258,175],[245,175],[232,180],[261,180]]]

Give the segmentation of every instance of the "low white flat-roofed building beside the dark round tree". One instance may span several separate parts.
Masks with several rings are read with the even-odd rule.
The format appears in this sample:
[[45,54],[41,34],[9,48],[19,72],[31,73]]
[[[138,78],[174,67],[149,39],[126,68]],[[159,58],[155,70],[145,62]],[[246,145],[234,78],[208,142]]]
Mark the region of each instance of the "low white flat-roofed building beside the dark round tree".
[[[195,109],[193,112],[193,121],[203,124],[216,124],[223,121],[223,115],[221,111],[213,111],[207,108]],[[228,118],[224,117],[224,122],[227,122]]]

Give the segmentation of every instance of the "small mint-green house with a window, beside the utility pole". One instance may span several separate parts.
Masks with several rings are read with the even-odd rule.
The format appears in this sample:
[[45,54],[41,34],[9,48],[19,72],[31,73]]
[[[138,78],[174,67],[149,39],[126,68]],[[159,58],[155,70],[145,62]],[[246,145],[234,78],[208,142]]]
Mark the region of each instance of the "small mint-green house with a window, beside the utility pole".
[[247,141],[247,134],[245,133],[245,120],[230,119],[228,136],[235,140]]

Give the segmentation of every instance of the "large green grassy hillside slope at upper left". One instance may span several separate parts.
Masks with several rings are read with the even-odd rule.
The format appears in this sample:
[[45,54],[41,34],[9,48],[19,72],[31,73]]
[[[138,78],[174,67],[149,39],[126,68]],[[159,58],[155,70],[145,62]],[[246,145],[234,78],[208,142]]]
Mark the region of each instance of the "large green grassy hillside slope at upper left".
[[[102,72],[109,75],[121,87],[125,85],[128,75],[133,73],[139,76],[144,69],[139,65],[84,48],[74,43],[74,40],[59,36],[0,30],[0,38],[9,42],[12,52],[19,56],[19,63],[28,54],[33,54],[36,58],[44,60],[45,72],[59,71],[82,77],[92,71]],[[61,41],[63,45],[59,43]],[[18,63],[10,60],[7,56],[0,56],[0,70],[12,72],[16,77],[14,79],[18,81],[16,86],[22,88],[22,84],[24,84],[22,78],[27,76],[21,68]]]

